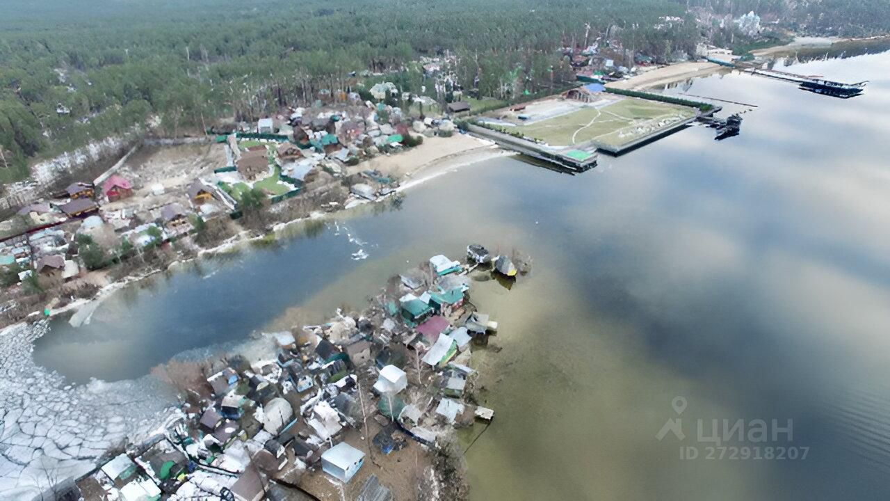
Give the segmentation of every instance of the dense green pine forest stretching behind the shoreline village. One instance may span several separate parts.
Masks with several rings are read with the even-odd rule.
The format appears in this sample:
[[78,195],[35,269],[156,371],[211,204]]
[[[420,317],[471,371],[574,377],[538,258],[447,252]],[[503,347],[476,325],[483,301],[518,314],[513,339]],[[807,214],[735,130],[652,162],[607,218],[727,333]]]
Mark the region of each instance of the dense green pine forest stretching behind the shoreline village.
[[[398,71],[420,56],[457,55],[458,83],[483,95],[511,72],[537,92],[570,70],[562,46],[610,37],[644,53],[692,53],[708,36],[702,12],[748,10],[843,35],[890,24],[890,0],[7,0],[0,181],[154,115],[170,135],[254,119],[345,88],[352,72]],[[399,85],[419,94],[425,82],[406,71]]]

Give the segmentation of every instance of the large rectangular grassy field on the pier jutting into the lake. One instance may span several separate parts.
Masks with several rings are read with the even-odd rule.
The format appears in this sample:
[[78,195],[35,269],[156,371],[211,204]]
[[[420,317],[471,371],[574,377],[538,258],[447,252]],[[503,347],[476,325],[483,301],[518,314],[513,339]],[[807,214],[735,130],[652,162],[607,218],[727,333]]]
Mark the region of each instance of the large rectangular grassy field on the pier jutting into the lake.
[[[582,108],[561,117],[515,127],[514,130],[552,146],[581,144],[590,140],[620,146],[655,132],[653,125],[645,127],[647,122],[651,124],[651,120],[680,121],[693,116],[695,110],[687,106],[625,98],[602,108]],[[646,130],[637,133],[637,127]]]

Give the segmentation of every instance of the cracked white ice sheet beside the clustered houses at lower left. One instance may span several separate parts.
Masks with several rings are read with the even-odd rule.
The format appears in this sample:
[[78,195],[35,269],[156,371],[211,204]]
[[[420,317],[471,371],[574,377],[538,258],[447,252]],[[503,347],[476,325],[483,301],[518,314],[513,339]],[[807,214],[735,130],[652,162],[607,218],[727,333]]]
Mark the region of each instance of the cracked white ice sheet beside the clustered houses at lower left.
[[0,330],[0,499],[30,500],[51,484],[93,469],[124,439],[147,439],[175,411],[174,395],[151,376],[67,385],[34,363],[47,324]]

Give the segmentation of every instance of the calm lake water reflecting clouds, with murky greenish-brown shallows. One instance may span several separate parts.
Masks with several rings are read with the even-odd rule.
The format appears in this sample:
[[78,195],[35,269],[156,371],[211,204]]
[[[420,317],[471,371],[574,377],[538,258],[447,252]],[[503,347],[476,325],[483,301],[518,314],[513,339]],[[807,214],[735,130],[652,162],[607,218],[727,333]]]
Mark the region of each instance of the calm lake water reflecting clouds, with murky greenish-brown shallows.
[[[750,110],[738,137],[691,127],[579,176],[513,158],[449,173],[400,208],[117,293],[90,324],[55,322],[36,360],[135,377],[483,242],[534,262],[510,291],[473,290],[502,348],[474,354],[497,415],[462,437],[473,499],[886,499],[890,53],[789,70],[870,84],[850,100],[738,74],[676,86],[757,107],[727,106]],[[684,439],[657,439],[671,419]],[[721,457],[712,419],[792,431]]]

